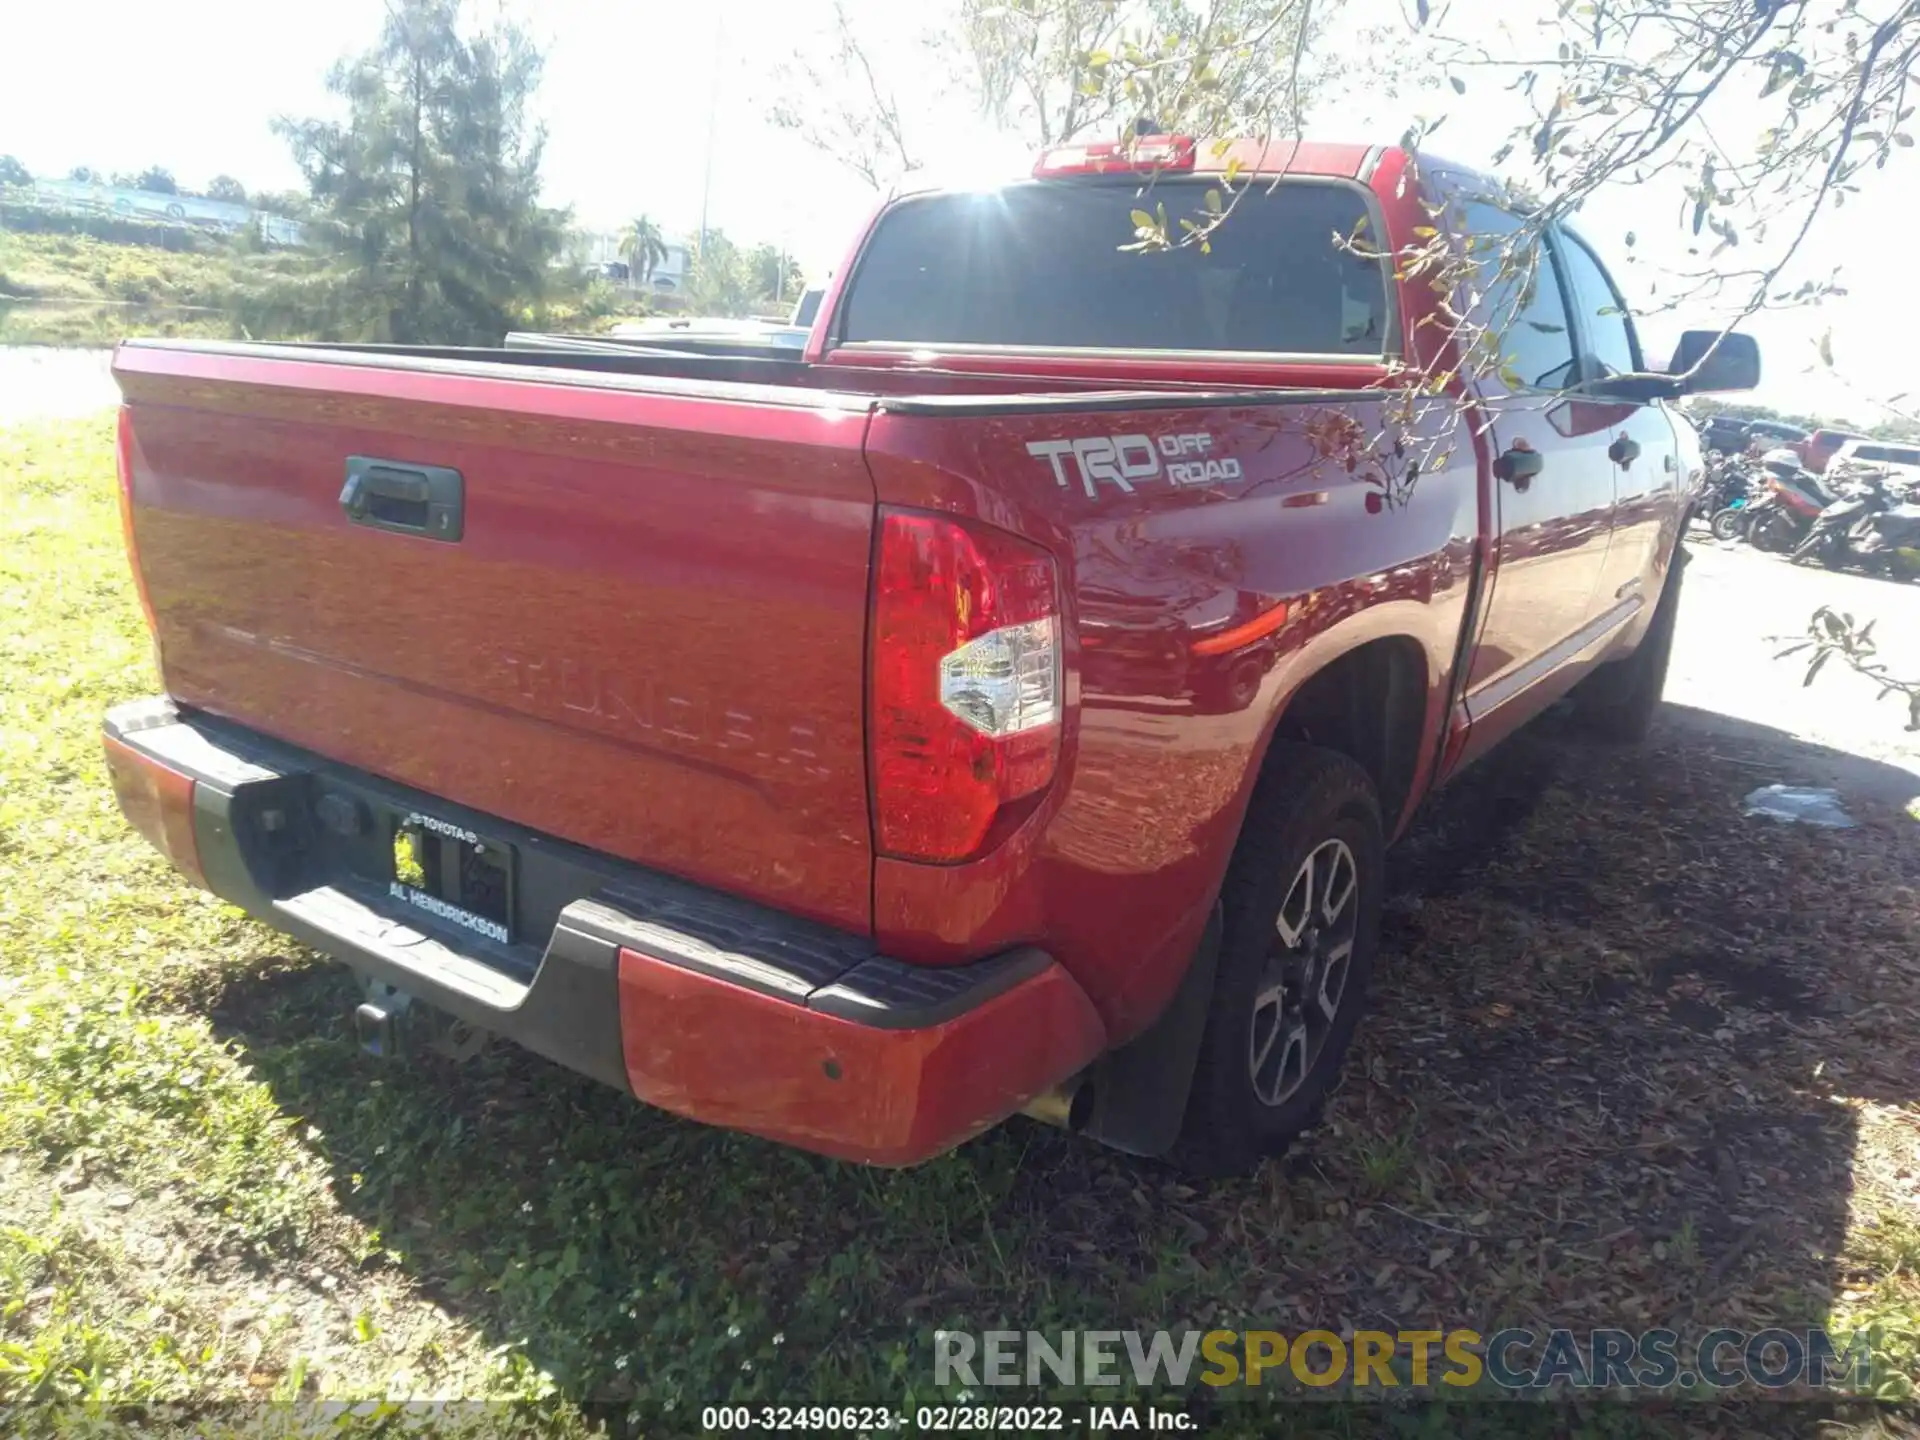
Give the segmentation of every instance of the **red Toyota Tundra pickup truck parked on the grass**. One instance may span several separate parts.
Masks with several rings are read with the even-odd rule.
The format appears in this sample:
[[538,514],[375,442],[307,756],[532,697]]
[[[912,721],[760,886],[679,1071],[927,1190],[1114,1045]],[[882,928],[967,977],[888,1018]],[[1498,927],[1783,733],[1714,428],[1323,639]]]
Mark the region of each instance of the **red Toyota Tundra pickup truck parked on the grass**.
[[[1121,248],[1227,177],[1206,248]],[[1465,374],[1380,255],[1515,234],[1498,194],[1077,146],[883,205],[803,355],[129,342],[121,804],[359,972],[374,1046],[449,1016],[876,1164],[1025,1110],[1246,1167],[1338,1073],[1421,799],[1569,691],[1645,730],[1663,401],[1759,372],[1649,372],[1555,228],[1452,298],[1511,315]]]

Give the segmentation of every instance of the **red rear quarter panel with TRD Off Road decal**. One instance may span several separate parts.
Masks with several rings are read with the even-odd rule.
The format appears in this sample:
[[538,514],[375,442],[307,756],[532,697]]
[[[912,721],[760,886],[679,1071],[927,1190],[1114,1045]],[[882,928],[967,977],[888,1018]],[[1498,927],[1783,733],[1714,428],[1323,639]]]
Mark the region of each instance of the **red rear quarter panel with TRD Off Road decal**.
[[[1116,438],[1135,438],[1125,486],[1089,478],[1056,445],[1092,440],[1104,470],[1098,442]],[[876,862],[874,929],[889,952],[948,962],[1044,943],[1125,1039],[1177,985],[1275,720],[1306,678],[1356,645],[1411,637],[1427,657],[1427,733],[1440,732],[1480,503],[1450,401],[883,407],[868,465],[881,503],[1052,551],[1068,636],[1060,776],[975,864]],[[1283,603],[1275,634],[1194,651]]]

